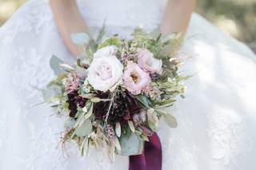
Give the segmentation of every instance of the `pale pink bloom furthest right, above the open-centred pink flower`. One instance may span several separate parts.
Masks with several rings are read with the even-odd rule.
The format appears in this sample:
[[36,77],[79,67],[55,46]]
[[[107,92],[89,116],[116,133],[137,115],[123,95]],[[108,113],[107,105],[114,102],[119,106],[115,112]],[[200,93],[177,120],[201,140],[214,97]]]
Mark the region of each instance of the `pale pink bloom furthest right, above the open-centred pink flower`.
[[162,60],[154,58],[148,49],[138,49],[138,65],[148,73],[161,73]]

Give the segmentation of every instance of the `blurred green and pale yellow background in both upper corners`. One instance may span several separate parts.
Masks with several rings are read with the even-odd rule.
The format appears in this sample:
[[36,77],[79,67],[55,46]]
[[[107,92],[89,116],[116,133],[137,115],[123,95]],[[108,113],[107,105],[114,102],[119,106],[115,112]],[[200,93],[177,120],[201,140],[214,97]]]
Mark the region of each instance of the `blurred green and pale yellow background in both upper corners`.
[[[26,0],[0,0],[0,26]],[[196,12],[256,52],[256,0],[198,0]]]

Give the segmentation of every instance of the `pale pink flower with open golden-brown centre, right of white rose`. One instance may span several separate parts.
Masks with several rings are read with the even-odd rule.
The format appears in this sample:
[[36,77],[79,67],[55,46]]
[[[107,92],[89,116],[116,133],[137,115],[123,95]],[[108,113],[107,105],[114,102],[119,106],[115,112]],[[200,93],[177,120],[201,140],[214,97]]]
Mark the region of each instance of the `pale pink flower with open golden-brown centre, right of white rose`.
[[150,74],[146,73],[133,61],[128,62],[123,80],[126,85],[126,89],[134,95],[142,93],[142,89],[146,88],[151,81]]

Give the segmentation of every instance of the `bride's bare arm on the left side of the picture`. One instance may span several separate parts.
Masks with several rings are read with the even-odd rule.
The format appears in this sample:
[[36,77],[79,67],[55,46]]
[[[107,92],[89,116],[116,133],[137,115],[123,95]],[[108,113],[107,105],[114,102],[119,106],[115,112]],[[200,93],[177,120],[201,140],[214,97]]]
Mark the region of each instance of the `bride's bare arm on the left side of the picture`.
[[86,23],[79,13],[76,0],[50,0],[50,7],[54,14],[58,31],[70,52],[77,56],[80,49],[72,42],[70,34],[89,32]]

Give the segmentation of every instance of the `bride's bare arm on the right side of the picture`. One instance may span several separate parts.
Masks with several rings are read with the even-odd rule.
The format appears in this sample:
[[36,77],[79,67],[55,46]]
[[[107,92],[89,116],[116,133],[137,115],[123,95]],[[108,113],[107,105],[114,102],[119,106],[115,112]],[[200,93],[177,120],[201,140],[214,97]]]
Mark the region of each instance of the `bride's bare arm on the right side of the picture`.
[[196,0],[168,0],[160,30],[162,34],[186,32]]

